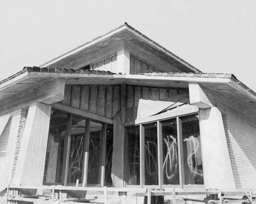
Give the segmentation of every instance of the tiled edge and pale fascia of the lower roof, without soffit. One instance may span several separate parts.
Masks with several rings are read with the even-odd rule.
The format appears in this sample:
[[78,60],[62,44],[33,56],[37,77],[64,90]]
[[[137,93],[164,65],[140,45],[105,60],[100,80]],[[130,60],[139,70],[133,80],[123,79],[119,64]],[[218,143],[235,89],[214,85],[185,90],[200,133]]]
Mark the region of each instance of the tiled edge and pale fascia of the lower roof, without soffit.
[[[150,74],[150,75],[149,75]],[[8,85],[15,84],[25,77],[52,77],[52,78],[76,78],[76,77],[109,77],[109,78],[123,78],[124,80],[165,80],[183,81],[187,83],[231,83],[234,88],[242,93],[247,94],[248,97],[256,101],[256,93],[239,81],[233,74],[216,74],[216,73],[145,73],[139,75],[123,75],[115,74],[105,71],[93,70],[74,70],[74,69],[58,69],[45,67],[24,67],[24,69],[7,79],[0,81],[0,90]]]

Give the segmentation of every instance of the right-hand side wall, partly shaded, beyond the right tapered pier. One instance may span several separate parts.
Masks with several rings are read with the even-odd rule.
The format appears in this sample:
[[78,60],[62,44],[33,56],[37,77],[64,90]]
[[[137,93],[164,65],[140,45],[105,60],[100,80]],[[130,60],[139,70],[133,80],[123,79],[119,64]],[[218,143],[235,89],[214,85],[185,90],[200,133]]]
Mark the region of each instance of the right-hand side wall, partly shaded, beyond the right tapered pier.
[[216,92],[207,94],[222,112],[226,141],[236,188],[256,188],[256,115]]

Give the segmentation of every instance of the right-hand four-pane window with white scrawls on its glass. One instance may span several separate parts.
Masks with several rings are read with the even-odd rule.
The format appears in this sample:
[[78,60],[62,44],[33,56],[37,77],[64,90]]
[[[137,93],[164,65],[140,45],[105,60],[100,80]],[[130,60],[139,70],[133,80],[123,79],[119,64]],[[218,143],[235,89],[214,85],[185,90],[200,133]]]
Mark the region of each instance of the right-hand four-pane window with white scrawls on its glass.
[[204,184],[198,114],[132,126],[126,131],[127,185]]

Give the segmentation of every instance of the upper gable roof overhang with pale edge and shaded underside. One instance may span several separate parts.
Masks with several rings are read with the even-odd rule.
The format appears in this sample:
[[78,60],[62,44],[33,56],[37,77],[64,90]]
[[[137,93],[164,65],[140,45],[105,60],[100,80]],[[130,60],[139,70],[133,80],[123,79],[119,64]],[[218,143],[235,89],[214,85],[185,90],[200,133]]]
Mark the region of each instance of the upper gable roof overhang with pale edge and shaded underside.
[[[80,69],[89,63],[104,59],[106,54],[114,55],[118,50],[124,48],[130,50],[131,54],[133,54],[132,51],[135,50],[134,48],[143,48],[146,53],[154,53],[157,58],[172,65],[173,70],[165,70],[166,72],[201,72],[193,65],[187,63],[127,24],[123,24],[105,35],[99,36],[65,54],[41,64],[40,67]],[[97,53],[97,55],[95,55],[95,53]],[[98,56],[101,58],[97,58]],[[162,67],[162,69],[164,69],[164,67]]]

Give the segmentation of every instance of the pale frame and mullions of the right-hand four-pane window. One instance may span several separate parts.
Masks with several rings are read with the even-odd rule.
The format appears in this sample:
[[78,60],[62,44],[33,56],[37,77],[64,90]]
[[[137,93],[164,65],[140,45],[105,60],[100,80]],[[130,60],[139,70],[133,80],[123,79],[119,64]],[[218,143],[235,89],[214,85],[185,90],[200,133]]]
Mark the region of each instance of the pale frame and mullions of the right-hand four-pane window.
[[[129,123],[126,123],[125,129],[132,127],[132,126],[139,126],[140,127],[140,185],[127,185],[124,182],[125,187],[141,187],[141,188],[203,188],[205,184],[191,184],[191,185],[185,185],[185,177],[184,177],[184,157],[183,157],[183,145],[182,145],[182,123],[181,118],[186,116],[193,116],[198,115],[198,123],[199,123],[199,131],[200,131],[200,112],[199,111],[193,111],[182,115],[176,115],[176,116],[170,116],[170,117],[158,117],[158,120],[150,120],[147,119],[146,122],[141,122],[138,124],[130,125]],[[152,117],[153,118],[153,117]],[[162,145],[162,122],[168,121],[170,119],[175,119],[177,121],[177,139],[178,139],[178,161],[179,161],[179,185],[164,185],[163,181],[163,145]],[[154,118],[153,118],[154,119]],[[158,185],[145,185],[145,164],[144,164],[144,125],[156,122],[157,123],[157,157],[158,157]],[[125,130],[126,131],[126,130]],[[127,137],[128,135],[125,134]],[[201,131],[200,131],[200,137],[201,137]],[[202,140],[200,140],[200,146],[202,147]],[[203,155],[202,155],[202,165],[203,162]],[[203,168],[204,169],[204,168]],[[204,174],[203,174],[204,179]],[[205,180],[205,179],[204,179]]]

